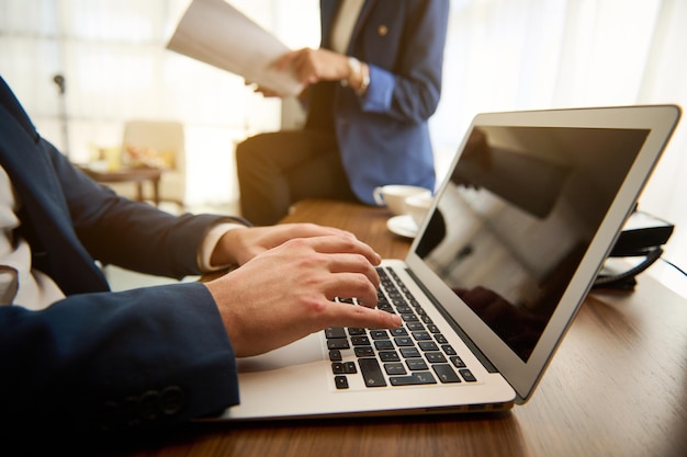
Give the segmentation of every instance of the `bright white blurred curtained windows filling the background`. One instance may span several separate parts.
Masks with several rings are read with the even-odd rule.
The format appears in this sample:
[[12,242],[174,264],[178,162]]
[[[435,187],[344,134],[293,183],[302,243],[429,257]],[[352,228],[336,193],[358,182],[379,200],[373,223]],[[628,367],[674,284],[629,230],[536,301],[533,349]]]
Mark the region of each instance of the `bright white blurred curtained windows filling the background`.
[[[294,103],[266,100],[240,77],[166,49],[189,3],[2,0],[0,75],[42,135],[76,162],[121,148],[128,121],[180,122],[184,204],[228,212],[238,199],[236,142],[295,126],[301,117]],[[229,3],[292,48],[319,43],[317,0]],[[686,23],[682,0],[451,0],[443,92],[431,119],[438,175],[478,112],[647,103],[687,108]],[[686,123],[640,198],[640,209],[676,225],[664,259],[683,270]],[[668,283],[676,274],[665,262],[650,272]],[[678,276],[674,288],[687,296]]]

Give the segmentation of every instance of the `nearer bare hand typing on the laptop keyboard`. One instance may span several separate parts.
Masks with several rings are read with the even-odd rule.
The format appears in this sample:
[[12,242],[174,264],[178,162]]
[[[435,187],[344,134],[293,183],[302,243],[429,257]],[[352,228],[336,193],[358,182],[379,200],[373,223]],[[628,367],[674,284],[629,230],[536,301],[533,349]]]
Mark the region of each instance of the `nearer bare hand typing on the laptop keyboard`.
[[[267,239],[277,243],[279,236]],[[401,325],[398,316],[374,309],[379,262],[379,254],[349,235],[295,238],[205,285],[236,356],[245,357],[327,327]],[[338,304],[335,297],[356,297],[364,306]]]

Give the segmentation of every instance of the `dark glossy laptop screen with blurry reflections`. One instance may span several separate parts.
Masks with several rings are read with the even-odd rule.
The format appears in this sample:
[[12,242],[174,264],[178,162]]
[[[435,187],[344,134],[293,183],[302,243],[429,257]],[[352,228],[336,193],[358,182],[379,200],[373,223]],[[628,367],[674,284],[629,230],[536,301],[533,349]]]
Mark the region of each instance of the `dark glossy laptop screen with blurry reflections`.
[[527,362],[649,130],[472,130],[416,253]]

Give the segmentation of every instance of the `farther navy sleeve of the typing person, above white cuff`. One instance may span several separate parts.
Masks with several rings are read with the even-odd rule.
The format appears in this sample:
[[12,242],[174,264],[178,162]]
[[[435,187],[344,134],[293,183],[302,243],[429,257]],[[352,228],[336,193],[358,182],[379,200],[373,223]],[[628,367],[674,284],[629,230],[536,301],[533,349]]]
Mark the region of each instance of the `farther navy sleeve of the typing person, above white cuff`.
[[200,274],[198,251],[215,215],[173,216],[122,198],[77,170],[54,148],[60,182],[79,241],[97,260],[142,273],[181,278]]

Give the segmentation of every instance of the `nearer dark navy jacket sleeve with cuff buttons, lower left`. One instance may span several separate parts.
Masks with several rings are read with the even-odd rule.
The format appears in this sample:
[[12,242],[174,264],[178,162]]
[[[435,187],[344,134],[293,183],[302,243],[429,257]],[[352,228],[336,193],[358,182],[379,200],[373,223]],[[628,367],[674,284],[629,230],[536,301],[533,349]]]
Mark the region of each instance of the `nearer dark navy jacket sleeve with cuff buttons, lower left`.
[[0,373],[1,422],[16,431],[158,426],[239,400],[232,345],[200,283],[0,307]]

